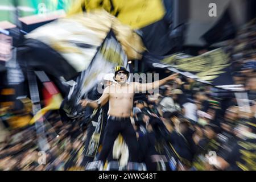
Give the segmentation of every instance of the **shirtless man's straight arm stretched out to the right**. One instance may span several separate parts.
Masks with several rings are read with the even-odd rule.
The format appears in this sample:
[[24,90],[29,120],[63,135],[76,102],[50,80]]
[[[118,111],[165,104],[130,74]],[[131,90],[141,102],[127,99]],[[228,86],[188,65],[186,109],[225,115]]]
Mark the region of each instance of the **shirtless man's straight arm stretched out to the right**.
[[163,78],[162,80],[154,81],[152,83],[147,83],[147,84],[140,84],[138,82],[135,82],[135,88],[139,92],[153,90],[153,89],[159,88],[159,86],[166,84],[166,82],[168,81],[175,80],[175,78],[177,78],[177,75],[179,75],[179,73],[172,74],[166,78]]

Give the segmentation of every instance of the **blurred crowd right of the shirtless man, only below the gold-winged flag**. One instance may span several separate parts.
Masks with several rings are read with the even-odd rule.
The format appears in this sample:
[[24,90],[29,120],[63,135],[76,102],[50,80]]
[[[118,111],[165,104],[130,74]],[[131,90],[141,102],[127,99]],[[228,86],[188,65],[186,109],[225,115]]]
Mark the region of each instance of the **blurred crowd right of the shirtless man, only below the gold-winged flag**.
[[157,100],[135,102],[135,129],[147,168],[255,170],[254,100],[248,112],[232,97],[228,103],[213,97],[208,86],[186,95],[193,84],[168,84]]

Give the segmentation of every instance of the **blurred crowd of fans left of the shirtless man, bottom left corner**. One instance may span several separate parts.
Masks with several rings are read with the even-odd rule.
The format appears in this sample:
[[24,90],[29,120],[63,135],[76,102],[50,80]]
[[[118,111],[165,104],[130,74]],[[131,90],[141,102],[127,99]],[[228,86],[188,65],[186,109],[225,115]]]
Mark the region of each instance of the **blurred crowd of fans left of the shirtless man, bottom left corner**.
[[45,121],[47,150],[41,151],[34,126],[13,130],[0,145],[0,170],[80,170],[86,132],[77,122],[63,123],[59,113]]

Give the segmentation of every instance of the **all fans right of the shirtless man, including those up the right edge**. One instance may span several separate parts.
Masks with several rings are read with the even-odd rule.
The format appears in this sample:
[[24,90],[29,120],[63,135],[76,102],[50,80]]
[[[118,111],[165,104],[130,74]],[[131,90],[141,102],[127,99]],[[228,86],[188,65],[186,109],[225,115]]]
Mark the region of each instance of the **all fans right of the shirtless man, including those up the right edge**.
[[223,92],[179,78],[165,85],[156,100],[148,96],[136,102],[141,146],[147,143],[144,138],[151,140],[142,156],[151,155],[156,162],[144,158],[148,169],[256,169],[255,28],[253,20],[224,47],[231,57],[233,80],[245,90]]

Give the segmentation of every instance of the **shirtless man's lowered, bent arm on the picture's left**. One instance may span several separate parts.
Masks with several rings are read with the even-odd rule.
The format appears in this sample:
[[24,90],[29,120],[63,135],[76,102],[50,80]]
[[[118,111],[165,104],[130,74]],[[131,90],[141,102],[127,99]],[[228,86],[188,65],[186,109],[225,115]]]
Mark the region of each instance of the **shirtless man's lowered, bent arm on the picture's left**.
[[107,87],[102,96],[96,100],[96,101],[90,101],[90,100],[81,100],[79,103],[81,104],[82,107],[86,107],[86,106],[89,106],[89,107],[92,107],[93,109],[96,109],[100,106],[104,106],[106,104],[106,102],[109,101],[109,87]]

